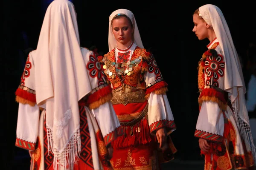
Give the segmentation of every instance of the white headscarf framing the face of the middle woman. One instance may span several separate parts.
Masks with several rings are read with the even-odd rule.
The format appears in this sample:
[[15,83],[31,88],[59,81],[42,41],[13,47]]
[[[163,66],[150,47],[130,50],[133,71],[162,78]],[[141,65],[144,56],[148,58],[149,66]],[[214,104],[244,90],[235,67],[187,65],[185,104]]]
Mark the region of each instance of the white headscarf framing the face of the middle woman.
[[116,47],[116,39],[112,32],[112,20],[117,14],[125,14],[128,18],[130,18],[131,23],[134,27],[134,43],[137,44],[140,48],[144,48],[143,43],[140,38],[140,32],[134,17],[134,14],[129,11],[128,9],[117,9],[113,11],[112,14],[109,16],[109,24],[108,24],[108,50],[111,51],[113,48]]

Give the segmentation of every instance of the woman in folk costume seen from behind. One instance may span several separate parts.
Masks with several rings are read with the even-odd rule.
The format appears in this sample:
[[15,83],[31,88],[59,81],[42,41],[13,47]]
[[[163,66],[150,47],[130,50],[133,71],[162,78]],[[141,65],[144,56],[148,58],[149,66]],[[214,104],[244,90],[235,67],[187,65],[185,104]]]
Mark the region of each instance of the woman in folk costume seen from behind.
[[73,4],[54,0],[16,91],[16,146],[30,151],[31,169],[112,169],[110,143],[123,131],[111,91],[93,51],[80,47]]

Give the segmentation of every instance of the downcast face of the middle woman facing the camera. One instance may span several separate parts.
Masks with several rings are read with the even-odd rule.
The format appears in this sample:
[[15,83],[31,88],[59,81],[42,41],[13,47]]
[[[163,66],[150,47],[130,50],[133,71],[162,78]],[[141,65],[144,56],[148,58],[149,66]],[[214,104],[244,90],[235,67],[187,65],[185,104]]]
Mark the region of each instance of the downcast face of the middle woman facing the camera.
[[127,17],[121,16],[113,19],[112,32],[117,43],[125,45],[132,40],[133,27]]

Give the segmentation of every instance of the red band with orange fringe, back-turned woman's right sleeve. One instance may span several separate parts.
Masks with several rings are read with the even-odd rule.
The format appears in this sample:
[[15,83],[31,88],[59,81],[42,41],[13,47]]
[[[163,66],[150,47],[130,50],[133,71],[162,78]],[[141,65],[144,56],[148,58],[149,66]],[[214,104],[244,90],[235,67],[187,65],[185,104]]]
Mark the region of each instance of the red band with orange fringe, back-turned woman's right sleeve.
[[100,105],[108,102],[112,99],[112,88],[110,85],[101,85],[89,94],[87,98],[87,104],[89,104],[90,109],[99,108]]

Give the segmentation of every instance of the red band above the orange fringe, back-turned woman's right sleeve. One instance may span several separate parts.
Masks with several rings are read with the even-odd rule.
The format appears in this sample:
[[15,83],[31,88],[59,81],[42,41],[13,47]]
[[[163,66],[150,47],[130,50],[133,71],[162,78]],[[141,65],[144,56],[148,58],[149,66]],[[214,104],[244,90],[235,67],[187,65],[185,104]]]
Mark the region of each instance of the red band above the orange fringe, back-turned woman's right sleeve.
[[102,97],[107,96],[108,94],[111,94],[111,93],[112,93],[112,88],[110,87],[110,85],[108,85],[108,86],[106,86],[102,89],[99,89],[95,93],[88,96],[87,104],[91,104],[93,102],[96,102],[99,99],[101,99]]

